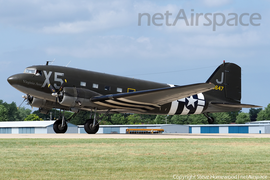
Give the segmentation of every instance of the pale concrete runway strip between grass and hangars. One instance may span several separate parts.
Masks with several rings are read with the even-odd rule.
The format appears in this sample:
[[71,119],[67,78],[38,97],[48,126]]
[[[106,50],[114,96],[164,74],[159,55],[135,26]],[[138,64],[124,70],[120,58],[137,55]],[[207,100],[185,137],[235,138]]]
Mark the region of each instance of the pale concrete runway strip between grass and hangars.
[[0,139],[199,139],[270,138],[270,134],[0,134]]

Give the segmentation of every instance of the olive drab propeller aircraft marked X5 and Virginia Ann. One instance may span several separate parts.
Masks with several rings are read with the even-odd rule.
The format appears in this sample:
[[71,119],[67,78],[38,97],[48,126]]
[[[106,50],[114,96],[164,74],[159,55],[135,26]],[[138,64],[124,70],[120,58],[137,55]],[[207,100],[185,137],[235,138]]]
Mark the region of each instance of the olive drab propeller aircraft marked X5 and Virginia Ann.
[[[27,67],[7,81],[40,113],[60,109],[53,129],[65,133],[67,123],[80,111],[91,111],[85,120],[88,134],[98,132],[99,123],[108,113],[159,115],[204,114],[260,107],[241,104],[241,67],[223,61],[205,83],[170,85],[71,67],[48,65]],[[24,100],[24,101],[25,101]],[[74,114],[64,118],[64,112]],[[104,113],[104,116],[96,116]]]

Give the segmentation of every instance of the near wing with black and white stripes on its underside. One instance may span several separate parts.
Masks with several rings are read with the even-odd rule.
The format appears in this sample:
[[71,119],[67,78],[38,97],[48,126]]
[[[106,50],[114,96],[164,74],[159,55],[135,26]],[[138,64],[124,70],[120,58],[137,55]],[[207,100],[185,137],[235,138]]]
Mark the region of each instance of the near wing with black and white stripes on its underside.
[[146,112],[182,98],[209,91],[215,87],[212,83],[198,83],[145,91],[128,92],[115,95],[96,96],[91,102],[102,106]]

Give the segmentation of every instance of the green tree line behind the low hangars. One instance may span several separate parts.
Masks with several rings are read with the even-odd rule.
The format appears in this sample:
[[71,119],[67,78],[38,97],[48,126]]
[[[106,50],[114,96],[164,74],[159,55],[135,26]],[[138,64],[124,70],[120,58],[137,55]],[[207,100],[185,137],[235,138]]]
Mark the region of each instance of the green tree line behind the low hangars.
[[[65,118],[72,116],[72,112],[65,111]],[[103,114],[98,114],[102,116]],[[270,104],[262,108],[250,108],[248,113],[241,111],[210,113],[215,119],[214,124],[244,124],[245,122],[270,120]],[[52,109],[49,114],[42,114],[38,110],[32,113],[32,110],[25,107],[17,107],[15,102],[8,104],[0,100],[0,121],[48,121],[56,120],[59,116],[59,110]],[[54,119],[54,117],[56,117]],[[70,123],[74,125],[84,125],[85,120],[90,118],[90,112],[81,111]],[[179,125],[200,125],[208,124],[207,118],[203,114],[192,115],[149,115],[149,114],[108,114],[103,118],[100,125],[140,125],[140,124],[179,124]]]

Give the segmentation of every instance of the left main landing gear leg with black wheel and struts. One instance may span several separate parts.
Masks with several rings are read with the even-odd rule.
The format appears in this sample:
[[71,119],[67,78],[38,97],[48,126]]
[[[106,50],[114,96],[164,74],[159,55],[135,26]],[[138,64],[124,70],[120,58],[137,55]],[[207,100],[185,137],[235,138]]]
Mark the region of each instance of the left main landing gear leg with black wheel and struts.
[[[63,111],[63,113],[61,114],[61,111]],[[64,119],[64,113],[65,110],[64,109],[60,109],[60,114],[59,114],[59,119],[56,120],[53,124],[53,131],[55,133],[65,133],[67,131],[67,123],[70,122],[71,118],[74,118],[76,116],[77,113],[74,113],[72,116],[70,116],[70,118],[68,118],[67,120]],[[62,119],[61,119],[62,117]]]

